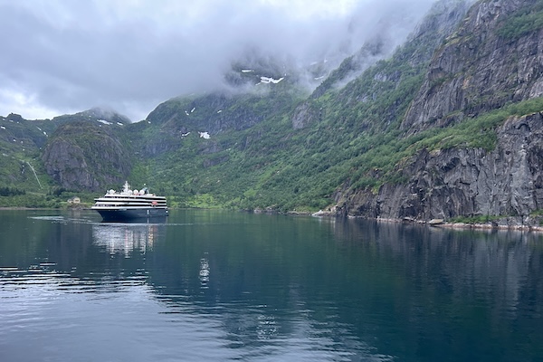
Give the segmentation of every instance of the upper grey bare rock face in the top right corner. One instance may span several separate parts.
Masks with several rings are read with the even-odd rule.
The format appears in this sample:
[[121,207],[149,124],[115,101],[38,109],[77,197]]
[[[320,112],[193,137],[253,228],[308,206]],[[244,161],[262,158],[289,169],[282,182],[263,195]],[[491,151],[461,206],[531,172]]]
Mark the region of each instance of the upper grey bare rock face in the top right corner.
[[506,20],[536,0],[482,1],[434,54],[402,129],[447,127],[543,94],[543,31],[510,36]]

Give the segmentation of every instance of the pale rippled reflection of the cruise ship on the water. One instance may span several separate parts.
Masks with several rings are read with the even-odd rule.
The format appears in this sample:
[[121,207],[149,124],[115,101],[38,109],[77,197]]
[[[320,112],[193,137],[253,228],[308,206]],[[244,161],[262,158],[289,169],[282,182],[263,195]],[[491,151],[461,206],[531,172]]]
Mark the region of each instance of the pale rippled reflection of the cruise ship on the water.
[[161,228],[164,228],[163,224],[93,224],[92,239],[93,243],[104,247],[110,254],[121,253],[129,258],[133,252],[151,251]]

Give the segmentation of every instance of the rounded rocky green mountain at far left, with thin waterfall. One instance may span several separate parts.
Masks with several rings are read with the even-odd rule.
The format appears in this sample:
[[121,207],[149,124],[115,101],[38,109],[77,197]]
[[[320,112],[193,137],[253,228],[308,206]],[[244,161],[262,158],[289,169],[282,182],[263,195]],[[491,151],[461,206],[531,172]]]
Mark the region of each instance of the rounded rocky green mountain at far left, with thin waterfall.
[[42,193],[55,187],[98,191],[124,182],[131,165],[125,159],[131,158],[116,136],[123,122],[129,119],[100,109],[53,119],[0,117],[0,179],[7,187]]

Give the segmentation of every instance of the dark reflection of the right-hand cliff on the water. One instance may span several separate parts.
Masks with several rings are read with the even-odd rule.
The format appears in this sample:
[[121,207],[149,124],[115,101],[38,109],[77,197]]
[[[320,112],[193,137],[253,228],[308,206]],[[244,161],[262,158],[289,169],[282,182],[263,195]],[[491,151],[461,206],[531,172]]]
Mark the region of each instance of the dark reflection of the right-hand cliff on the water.
[[[338,246],[348,254],[393,262],[411,288],[424,295],[481,300],[495,313],[514,317],[519,304],[543,300],[540,233],[451,230],[414,224],[346,220],[333,224]],[[530,298],[532,301],[530,301]]]

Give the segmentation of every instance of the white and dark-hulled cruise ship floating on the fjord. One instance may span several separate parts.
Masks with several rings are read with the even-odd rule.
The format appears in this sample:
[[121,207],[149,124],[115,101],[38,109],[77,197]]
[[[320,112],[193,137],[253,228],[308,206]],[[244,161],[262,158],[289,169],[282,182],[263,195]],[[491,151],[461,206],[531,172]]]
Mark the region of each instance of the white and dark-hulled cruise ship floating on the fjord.
[[167,216],[166,197],[150,194],[147,187],[132,190],[128,181],[121,192],[110,190],[94,202],[91,209],[100,213],[103,221],[138,221]]

